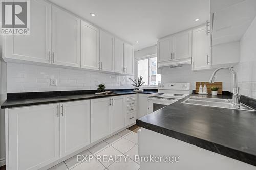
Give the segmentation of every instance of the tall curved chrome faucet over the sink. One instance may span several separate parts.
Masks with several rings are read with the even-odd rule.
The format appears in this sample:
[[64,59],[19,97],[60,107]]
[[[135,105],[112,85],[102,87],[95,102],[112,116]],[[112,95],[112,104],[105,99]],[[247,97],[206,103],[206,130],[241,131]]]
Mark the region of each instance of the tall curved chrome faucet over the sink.
[[209,80],[209,83],[214,83],[215,74],[220,69],[229,69],[229,70],[231,70],[233,72],[233,79],[234,79],[233,104],[240,105],[240,94],[239,94],[239,87],[238,87],[238,81],[237,81],[237,74],[236,74],[236,71],[234,71],[232,68],[230,68],[230,67],[220,67],[220,68],[217,68],[212,73],[212,76],[211,76],[211,78]]

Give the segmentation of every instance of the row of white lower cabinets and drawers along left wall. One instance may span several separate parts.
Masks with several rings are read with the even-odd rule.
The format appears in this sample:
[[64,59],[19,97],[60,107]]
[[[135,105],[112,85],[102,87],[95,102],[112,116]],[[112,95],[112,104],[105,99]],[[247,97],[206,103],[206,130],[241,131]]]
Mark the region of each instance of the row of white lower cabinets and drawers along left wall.
[[133,124],[136,95],[7,109],[7,170],[44,168]]

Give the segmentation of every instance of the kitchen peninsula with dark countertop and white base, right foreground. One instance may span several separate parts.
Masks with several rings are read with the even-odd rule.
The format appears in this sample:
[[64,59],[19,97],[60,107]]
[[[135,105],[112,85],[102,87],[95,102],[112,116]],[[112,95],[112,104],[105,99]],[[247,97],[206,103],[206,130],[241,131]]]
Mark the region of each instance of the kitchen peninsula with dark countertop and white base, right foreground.
[[256,169],[256,112],[182,104],[187,98],[137,120],[140,156],[180,158],[140,169]]

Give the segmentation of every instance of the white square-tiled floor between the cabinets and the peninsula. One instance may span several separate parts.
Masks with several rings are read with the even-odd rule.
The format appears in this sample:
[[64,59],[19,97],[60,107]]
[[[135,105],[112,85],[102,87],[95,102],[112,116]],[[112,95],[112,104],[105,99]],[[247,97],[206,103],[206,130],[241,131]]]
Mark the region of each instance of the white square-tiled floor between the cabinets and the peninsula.
[[[90,162],[77,162],[77,156],[74,156],[50,168],[50,170],[138,170],[140,168],[139,163],[134,161],[134,155],[138,155],[137,133],[128,129],[111,136],[78,155],[92,156],[93,159]],[[101,155],[108,155],[106,159],[111,156],[114,158],[114,155],[124,155],[127,156],[127,160],[124,161],[125,159],[122,157],[120,161],[117,157],[116,161],[97,161],[96,157]]]

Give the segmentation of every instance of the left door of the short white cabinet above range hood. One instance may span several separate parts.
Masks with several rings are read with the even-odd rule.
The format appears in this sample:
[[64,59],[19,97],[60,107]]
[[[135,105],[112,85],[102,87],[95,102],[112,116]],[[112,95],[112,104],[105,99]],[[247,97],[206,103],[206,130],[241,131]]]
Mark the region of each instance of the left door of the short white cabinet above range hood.
[[157,62],[169,61],[173,53],[173,37],[160,39],[157,43]]

